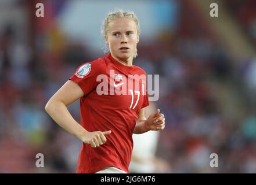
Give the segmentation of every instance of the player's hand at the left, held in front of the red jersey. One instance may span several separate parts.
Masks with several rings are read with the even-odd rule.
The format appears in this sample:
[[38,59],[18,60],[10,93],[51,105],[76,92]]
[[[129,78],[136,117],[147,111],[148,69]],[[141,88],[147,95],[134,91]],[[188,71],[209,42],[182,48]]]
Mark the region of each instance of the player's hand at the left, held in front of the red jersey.
[[82,142],[91,145],[91,147],[93,148],[96,148],[106,143],[106,135],[109,134],[111,134],[111,131],[85,132],[80,139],[82,140]]

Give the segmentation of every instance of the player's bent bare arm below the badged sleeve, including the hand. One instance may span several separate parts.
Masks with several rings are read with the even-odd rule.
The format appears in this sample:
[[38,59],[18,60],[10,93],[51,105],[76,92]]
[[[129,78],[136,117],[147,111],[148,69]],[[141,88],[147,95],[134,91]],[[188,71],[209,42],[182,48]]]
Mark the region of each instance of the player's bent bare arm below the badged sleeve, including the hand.
[[68,112],[67,106],[84,96],[77,83],[68,80],[46,103],[45,110],[52,119],[66,129],[66,131],[77,136],[82,142],[90,144],[92,147],[103,145],[106,142],[104,135],[106,132],[88,132],[83,128]]

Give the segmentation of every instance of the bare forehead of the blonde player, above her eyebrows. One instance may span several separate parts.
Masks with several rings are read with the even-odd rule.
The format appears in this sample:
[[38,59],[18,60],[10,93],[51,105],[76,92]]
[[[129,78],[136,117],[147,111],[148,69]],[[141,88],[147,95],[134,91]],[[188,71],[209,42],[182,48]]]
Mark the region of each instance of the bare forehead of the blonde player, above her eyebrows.
[[115,18],[109,23],[109,31],[136,31],[136,23],[132,18]]

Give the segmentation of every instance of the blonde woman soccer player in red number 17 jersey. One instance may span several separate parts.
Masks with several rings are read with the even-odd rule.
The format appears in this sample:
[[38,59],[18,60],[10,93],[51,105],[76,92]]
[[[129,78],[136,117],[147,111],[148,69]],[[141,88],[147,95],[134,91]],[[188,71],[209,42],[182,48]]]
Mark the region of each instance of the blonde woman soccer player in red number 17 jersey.
[[[132,65],[140,34],[134,12],[109,13],[102,34],[109,54],[79,66],[45,110],[82,140],[77,173],[128,173],[132,134],[164,129],[165,119],[159,109],[147,119],[144,116],[149,101],[145,80],[138,76],[146,76],[146,72]],[[67,110],[78,98],[81,125]]]

